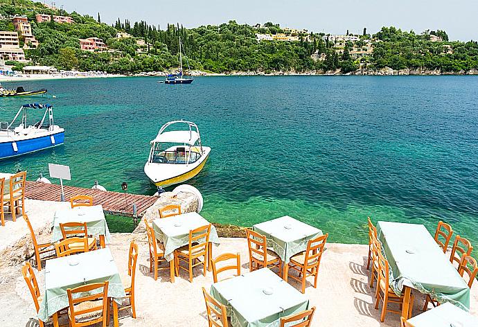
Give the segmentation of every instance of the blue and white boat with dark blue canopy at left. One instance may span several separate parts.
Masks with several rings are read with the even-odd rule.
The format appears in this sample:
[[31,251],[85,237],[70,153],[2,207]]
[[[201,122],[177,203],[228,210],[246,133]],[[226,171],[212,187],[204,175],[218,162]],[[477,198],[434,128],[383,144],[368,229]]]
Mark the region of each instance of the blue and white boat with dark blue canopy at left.
[[[40,121],[34,125],[28,125],[29,112],[35,109],[45,109],[45,113]],[[15,126],[15,121],[20,114],[21,123]],[[64,129],[53,123],[53,106],[51,105],[40,103],[22,105],[10,124],[0,122],[0,159],[52,148],[63,142]]]

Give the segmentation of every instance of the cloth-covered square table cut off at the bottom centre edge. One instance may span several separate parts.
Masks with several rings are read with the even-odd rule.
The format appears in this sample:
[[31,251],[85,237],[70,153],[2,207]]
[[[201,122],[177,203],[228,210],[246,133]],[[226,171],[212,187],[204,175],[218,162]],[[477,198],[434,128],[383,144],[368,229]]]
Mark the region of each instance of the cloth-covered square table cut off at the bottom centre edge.
[[304,294],[268,268],[214,283],[211,296],[227,306],[233,327],[278,327],[281,317],[309,308]]

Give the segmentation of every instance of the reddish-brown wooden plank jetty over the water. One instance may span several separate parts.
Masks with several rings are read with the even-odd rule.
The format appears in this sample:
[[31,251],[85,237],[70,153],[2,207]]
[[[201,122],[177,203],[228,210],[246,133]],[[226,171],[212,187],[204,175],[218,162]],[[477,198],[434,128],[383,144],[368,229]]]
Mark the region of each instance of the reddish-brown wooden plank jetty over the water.
[[[110,191],[99,191],[91,188],[76,186],[63,186],[65,201],[69,201],[75,195],[90,195],[93,204],[101,204],[106,213],[112,215],[133,216],[133,204],[136,204],[136,215],[141,217],[146,209],[158,200],[150,195],[129,194]],[[62,188],[57,184],[45,184],[42,182],[26,181],[25,197],[33,200],[60,201]]]

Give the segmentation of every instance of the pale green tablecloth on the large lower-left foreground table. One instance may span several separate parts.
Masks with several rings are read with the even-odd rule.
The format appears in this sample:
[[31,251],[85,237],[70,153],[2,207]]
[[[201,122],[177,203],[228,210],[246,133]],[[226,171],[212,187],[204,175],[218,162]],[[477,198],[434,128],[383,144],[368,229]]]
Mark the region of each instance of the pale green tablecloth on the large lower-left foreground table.
[[126,296],[118,268],[108,248],[46,260],[45,293],[38,318],[47,321],[55,312],[67,308],[68,288],[105,281],[109,281],[108,297],[121,299]]

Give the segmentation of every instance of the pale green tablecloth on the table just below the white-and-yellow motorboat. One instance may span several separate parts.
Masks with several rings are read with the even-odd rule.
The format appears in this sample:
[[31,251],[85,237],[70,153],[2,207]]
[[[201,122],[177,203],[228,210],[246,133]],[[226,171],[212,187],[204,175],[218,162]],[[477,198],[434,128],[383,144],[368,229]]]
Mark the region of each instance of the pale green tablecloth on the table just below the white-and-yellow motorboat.
[[[152,228],[157,240],[164,245],[164,257],[170,261],[174,258],[175,249],[189,244],[189,231],[208,224],[199,213],[190,212],[153,220]],[[214,226],[211,226],[209,242],[215,245],[220,243]]]

